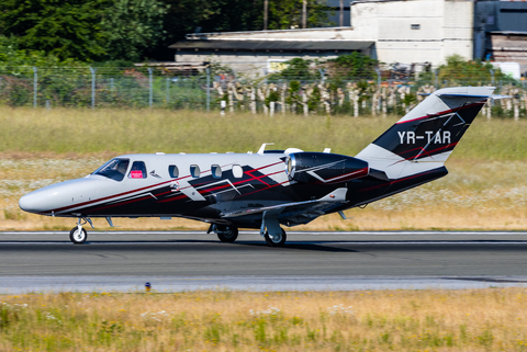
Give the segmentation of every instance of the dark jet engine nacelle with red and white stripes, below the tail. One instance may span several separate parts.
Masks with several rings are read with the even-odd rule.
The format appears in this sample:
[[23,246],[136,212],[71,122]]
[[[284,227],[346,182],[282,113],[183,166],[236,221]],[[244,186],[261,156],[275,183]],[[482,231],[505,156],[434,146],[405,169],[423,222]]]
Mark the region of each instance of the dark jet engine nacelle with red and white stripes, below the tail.
[[285,160],[290,180],[302,183],[340,183],[368,175],[365,160],[327,152],[294,152]]

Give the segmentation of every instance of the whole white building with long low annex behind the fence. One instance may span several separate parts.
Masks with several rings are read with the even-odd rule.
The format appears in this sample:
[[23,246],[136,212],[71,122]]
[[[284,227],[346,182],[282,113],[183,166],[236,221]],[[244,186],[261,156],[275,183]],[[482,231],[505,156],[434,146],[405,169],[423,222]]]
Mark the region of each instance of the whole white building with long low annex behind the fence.
[[[388,65],[430,63],[437,67],[453,54],[467,59],[492,55],[493,49],[485,44],[487,33],[498,31],[498,22],[505,25],[504,15],[509,13],[508,10],[501,12],[502,1],[491,0],[348,3],[350,26],[189,34],[186,41],[170,47],[176,49],[178,63],[212,59],[228,63],[238,70],[259,69],[262,73],[268,72],[273,61],[293,57],[330,58],[355,50]],[[520,7],[518,11],[524,11],[527,3]],[[523,25],[520,20],[517,22]]]

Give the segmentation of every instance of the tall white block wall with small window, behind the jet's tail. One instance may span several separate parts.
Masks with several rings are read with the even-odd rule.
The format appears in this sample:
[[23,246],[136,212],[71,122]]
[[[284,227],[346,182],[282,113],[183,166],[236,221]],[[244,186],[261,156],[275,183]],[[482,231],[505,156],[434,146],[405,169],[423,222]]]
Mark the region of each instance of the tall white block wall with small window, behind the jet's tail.
[[452,54],[473,57],[473,2],[408,0],[358,2],[351,7],[356,35],[377,41],[385,64],[439,66]]

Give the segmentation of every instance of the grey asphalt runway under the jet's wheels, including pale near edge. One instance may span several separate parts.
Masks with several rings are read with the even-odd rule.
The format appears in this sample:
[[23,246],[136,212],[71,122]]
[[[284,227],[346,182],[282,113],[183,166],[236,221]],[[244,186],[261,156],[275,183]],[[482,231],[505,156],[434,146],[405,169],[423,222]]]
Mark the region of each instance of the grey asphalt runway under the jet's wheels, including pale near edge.
[[288,232],[283,248],[189,231],[0,232],[0,293],[527,285],[527,232]]

